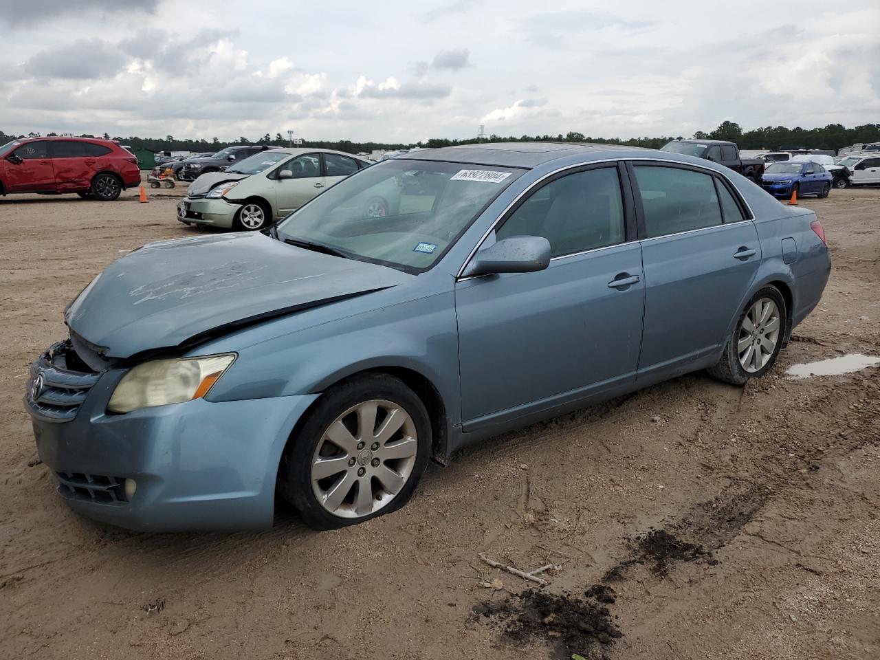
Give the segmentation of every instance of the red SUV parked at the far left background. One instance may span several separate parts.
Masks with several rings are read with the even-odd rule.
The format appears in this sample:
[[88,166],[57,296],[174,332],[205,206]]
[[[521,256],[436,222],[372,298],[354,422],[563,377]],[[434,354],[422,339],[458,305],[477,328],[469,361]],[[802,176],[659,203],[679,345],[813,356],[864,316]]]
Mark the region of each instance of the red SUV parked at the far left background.
[[0,146],[0,194],[77,193],[106,201],[140,185],[137,158],[112,140],[33,137]]

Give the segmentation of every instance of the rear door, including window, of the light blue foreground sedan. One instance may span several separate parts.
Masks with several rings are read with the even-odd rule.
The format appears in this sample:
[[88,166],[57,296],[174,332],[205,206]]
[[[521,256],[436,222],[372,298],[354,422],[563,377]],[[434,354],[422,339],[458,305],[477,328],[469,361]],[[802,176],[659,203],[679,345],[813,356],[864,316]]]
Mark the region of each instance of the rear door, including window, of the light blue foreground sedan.
[[748,296],[761,248],[719,175],[642,161],[629,169],[645,274],[638,379],[648,384],[708,366]]

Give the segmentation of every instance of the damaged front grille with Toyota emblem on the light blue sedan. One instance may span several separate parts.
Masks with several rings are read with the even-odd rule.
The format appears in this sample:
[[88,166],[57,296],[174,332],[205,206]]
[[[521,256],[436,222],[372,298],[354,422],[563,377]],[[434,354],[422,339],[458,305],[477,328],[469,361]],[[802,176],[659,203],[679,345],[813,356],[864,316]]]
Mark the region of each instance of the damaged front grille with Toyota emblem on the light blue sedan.
[[59,341],[31,365],[25,407],[46,422],[70,422],[100,374],[77,370],[84,367],[70,340]]

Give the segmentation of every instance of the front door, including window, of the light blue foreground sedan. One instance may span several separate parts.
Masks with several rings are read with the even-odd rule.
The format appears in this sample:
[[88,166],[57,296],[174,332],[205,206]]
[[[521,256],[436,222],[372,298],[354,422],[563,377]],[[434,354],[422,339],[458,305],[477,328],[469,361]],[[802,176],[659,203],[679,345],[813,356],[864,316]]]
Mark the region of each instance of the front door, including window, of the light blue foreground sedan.
[[543,236],[546,270],[456,283],[465,431],[634,382],[642,251],[627,242],[621,176],[602,165],[549,180],[483,244]]

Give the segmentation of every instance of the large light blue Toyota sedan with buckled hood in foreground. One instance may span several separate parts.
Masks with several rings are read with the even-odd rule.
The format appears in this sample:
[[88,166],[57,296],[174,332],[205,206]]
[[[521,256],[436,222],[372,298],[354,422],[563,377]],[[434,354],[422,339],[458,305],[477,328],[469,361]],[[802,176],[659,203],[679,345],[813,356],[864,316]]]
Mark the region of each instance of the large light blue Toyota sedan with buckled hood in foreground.
[[[365,214],[379,193],[393,212]],[[280,502],[336,528],[486,436],[689,371],[764,376],[830,268],[812,211],[701,158],[419,150],[268,231],[116,261],[64,312],[25,405],[85,516],[232,530]]]

